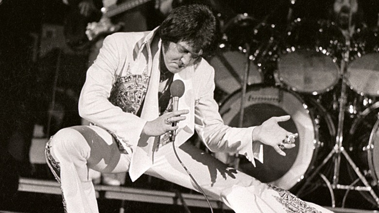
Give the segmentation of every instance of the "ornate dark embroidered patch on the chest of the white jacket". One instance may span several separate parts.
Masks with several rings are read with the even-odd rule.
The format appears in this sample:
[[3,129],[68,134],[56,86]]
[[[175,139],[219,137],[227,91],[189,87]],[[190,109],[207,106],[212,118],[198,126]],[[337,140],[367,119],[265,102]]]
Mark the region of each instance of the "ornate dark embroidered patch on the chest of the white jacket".
[[141,75],[128,72],[126,76],[116,76],[109,101],[122,111],[136,115],[145,98],[149,80],[145,71]]

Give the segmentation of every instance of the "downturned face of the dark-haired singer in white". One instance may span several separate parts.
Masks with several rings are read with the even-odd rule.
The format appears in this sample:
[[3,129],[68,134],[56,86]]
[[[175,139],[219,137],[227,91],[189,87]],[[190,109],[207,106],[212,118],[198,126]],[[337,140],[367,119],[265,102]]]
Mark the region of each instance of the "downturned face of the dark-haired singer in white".
[[165,65],[172,73],[178,73],[193,65],[203,53],[202,50],[196,53],[185,41],[169,42],[167,45],[162,45],[162,48]]

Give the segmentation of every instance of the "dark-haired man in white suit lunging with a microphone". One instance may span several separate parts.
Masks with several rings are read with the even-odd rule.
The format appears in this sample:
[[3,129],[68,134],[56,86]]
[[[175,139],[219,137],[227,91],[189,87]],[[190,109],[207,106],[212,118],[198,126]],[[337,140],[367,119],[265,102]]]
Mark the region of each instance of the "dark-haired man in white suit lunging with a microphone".
[[[128,171],[133,181],[147,174],[197,191],[198,184],[237,213],[288,213],[299,208],[329,212],[228,168],[186,143],[196,130],[211,151],[238,152],[253,164],[254,158],[262,160],[262,143],[283,156],[283,150],[294,147],[286,143],[286,136],[293,134],[277,124],[289,116],[249,128],[223,124],[213,99],[214,70],[202,58],[214,48],[215,36],[211,11],[193,4],[172,10],[152,32],[105,38],[79,101],[81,116],[94,125],[62,129],[47,144],[46,157],[61,182],[69,213],[98,212],[88,168]],[[169,88],[174,80],[181,80],[185,90],[180,110],[172,111]],[[170,140],[174,130],[175,140]]]

